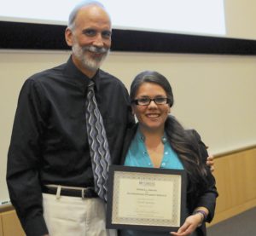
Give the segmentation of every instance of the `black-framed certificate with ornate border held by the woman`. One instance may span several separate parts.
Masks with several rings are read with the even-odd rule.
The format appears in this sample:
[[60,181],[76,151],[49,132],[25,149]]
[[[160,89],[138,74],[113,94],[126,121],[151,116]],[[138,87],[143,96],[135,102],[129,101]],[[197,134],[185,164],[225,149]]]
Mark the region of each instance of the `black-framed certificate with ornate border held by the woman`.
[[177,231],[185,205],[184,170],[109,167],[108,228]]

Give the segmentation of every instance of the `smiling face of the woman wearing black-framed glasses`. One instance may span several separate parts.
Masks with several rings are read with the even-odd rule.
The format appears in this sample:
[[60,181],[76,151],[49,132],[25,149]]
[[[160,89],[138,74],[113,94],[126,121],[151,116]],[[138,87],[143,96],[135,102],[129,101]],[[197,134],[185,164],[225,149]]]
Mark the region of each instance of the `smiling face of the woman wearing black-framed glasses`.
[[[135,100],[142,98],[166,98],[166,91],[157,83],[142,83],[137,89]],[[169,104],[156,104],[151,101],[149,105],[132,105],[132,111],[137,116],[140,129],[151,131],[163,131],[165,128],[166,118],[171,111]]]

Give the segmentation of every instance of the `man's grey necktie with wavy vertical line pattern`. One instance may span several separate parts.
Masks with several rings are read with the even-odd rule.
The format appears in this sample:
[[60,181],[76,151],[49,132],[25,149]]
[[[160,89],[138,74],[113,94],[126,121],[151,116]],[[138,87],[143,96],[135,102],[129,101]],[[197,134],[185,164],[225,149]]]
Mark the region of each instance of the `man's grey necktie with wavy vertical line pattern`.
[[90,147],[91,165],[95,190],[101,199],[107,201],[108,166],[110,154],[102,115],[98,109],[94,94],[94,82],[88,84],[85,118]]

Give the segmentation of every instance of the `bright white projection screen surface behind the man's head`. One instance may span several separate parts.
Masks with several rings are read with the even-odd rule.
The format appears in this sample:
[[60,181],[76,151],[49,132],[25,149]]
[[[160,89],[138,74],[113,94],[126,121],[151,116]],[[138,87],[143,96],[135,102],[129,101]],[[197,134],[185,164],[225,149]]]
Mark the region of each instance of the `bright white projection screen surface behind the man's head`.
[[[14,0],[1,4],[0,20],[67,25],[78,0]],[[113,28],[149,32],[225,35],[224,0],[101,0]]]

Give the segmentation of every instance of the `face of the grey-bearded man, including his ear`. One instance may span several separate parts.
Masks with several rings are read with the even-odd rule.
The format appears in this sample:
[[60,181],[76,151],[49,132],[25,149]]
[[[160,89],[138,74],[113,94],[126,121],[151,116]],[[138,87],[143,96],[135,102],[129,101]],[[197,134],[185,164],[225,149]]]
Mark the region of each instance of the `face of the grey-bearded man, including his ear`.
[[72,46],[73,61],[82,72],[94,74],[102,65],[111,46],[111,22],[98,6],[80,9],[73,30],[66,30],[67,44]]

